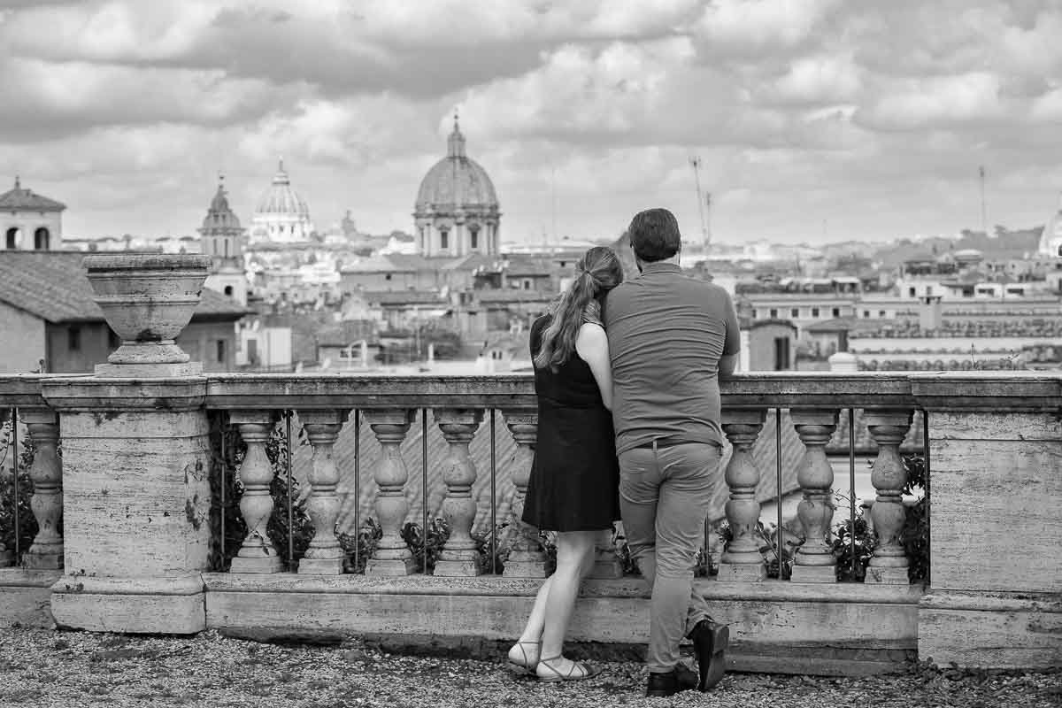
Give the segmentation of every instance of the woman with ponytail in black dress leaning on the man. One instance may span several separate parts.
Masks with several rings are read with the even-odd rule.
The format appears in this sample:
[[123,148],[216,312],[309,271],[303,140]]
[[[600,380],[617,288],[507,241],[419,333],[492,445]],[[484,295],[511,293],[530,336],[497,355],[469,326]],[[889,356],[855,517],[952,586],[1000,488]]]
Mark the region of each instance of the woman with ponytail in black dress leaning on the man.
[[556,533],[556,570],[546,579],[509,661],[541,680],[588,678],[563,655],[579,583],[594,546],[619,519],[619,463],[612,427],[612,368],[601,297],[623,280],[612,248],[595,246],[550,313],[531,327],[538,439],[524,521]]

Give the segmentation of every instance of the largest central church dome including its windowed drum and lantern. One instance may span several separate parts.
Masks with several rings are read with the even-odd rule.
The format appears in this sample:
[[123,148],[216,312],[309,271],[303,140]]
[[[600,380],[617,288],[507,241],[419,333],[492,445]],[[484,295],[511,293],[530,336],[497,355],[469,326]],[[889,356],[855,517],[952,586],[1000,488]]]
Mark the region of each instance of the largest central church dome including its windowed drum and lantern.
[[446,157],[421,182],[413,209],[414,235],[422,256],[496,255],[501,211],[494,183],[465,154],[457,116]]

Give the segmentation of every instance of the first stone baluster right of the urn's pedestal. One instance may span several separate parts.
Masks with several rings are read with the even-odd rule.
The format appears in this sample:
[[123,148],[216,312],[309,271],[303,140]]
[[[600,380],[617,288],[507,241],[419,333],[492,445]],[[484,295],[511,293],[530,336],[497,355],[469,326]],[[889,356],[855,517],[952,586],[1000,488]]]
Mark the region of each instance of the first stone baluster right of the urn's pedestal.
[[266,442],[273,432],[277,416],[272,411],[233,411],[229,420],[240,431],[247,446],[240,465],[240,514],[247,526],[240,552],[233,558],[234,573],[278,573],[282,568],[280,554],[269,538],[267,529],[273,515],[273,466],[266,455]]

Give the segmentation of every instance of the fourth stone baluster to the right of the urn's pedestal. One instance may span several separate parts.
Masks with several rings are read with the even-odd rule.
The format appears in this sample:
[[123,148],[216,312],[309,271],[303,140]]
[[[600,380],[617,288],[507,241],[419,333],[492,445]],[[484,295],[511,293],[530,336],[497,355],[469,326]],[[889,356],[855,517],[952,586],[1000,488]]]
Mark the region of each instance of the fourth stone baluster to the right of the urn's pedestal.
[[450,537],[435,563],[435,575],[479,574],[479,552],[472,537],[472,524],[476,519],[476,500],[472,497],[476,464],[468,455],[468,444],[482,420],[482,411],[449,408],[435,411],[435,424],[449,446],[442,462],[442,477],[446,484],[443,516],[450,524]]

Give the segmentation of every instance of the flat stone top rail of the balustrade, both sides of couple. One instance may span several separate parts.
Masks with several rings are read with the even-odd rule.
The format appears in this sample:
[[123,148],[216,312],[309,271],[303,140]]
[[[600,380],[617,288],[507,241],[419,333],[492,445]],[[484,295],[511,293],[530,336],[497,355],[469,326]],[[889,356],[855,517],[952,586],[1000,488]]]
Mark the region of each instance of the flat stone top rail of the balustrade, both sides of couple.
[[[721,383],[727,409],[1045,411],[1062,408],[1062,372],[741,374]],[[530,374],[441,377],[210,374],[174,378],[0,377],[0,407],[66,410],[533,409]]]

